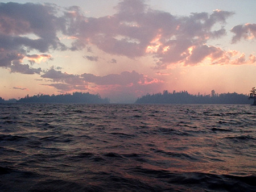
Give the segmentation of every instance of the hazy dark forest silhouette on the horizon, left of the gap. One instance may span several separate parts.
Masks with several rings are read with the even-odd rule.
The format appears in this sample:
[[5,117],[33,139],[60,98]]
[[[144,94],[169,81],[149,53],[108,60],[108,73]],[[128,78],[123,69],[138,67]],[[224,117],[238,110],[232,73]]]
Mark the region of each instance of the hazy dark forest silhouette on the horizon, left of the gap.
[[[10,100],[9,100],[10,101]],[[0,98],[0,102],[8,102]],[[73,94],[44,95],[38,94],[17,100],[18,103],[109,103],[108,98],[102,99],[100,95],[75,92]]]

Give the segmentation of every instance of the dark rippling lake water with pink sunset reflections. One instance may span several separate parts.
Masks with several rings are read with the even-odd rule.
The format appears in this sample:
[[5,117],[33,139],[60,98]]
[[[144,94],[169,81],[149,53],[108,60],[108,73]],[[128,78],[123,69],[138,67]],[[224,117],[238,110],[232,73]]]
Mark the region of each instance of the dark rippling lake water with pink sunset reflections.
[[255,191],[256,107],[0,105],[0,191]]

